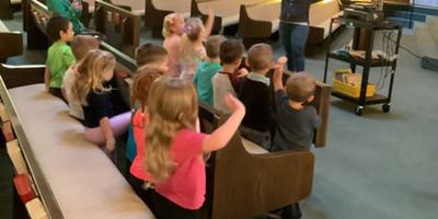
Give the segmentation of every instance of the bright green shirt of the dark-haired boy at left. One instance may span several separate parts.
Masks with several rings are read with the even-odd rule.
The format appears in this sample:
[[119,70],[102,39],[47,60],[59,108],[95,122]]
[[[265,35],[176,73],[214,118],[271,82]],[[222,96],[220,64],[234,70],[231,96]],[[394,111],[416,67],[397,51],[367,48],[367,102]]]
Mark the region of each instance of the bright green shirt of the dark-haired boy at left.
[[48,48],[46,65],[50,68],[50,88],[60,89],[68,66],[74,65],[76,58],[70,46],[56,42]]

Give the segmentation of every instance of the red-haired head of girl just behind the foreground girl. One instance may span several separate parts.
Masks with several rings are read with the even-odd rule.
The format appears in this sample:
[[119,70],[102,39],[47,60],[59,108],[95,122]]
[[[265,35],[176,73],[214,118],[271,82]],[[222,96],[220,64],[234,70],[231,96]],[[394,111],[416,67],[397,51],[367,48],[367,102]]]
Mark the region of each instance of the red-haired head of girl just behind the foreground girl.
[[146,111],[146,106],[148,105],[148,96],[149,91],[152,87],[152,83],[164,76],[164,71],[155,68],[143,68],[134,79],[131,94],[130,94],[130,103],[131,106],[136,104],[138,101],[140,103],[141,112]]

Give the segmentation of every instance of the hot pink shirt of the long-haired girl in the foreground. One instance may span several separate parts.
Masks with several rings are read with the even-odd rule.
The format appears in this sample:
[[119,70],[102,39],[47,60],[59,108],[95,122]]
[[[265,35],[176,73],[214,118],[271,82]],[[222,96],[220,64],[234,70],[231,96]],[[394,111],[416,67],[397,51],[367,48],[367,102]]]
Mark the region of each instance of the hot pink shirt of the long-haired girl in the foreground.
[[196,210],[204,204],[206,173],[201,146],[206,136],[180,130],[171,147],[177,169],[164,183],[155,185],[159,194],[185,209]]

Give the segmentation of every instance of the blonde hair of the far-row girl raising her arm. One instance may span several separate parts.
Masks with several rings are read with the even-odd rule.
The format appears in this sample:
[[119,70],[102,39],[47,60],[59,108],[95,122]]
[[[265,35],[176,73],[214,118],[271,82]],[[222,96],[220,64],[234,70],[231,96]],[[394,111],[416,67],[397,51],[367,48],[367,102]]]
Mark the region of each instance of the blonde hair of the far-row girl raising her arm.
[[[185,22],[184,34],[180,41],[180,57],[183,61],[194,61],[194,54],[196,53],[193,43],[199,39],[200,33],[204,30],[204,24],[200,19],[192,18]],[[195,60],[196,62],[196,60]]]

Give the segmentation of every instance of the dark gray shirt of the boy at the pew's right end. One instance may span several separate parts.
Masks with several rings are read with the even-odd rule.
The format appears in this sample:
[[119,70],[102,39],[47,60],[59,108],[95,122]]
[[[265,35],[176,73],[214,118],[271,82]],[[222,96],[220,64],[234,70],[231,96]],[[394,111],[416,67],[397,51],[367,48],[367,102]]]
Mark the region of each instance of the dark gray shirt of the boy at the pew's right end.
[[295,110],[284,90],[275,92],[277,105],[277,129],[272,151],[310,149],[315,129],[321,126],[321,117],[313,106]]

